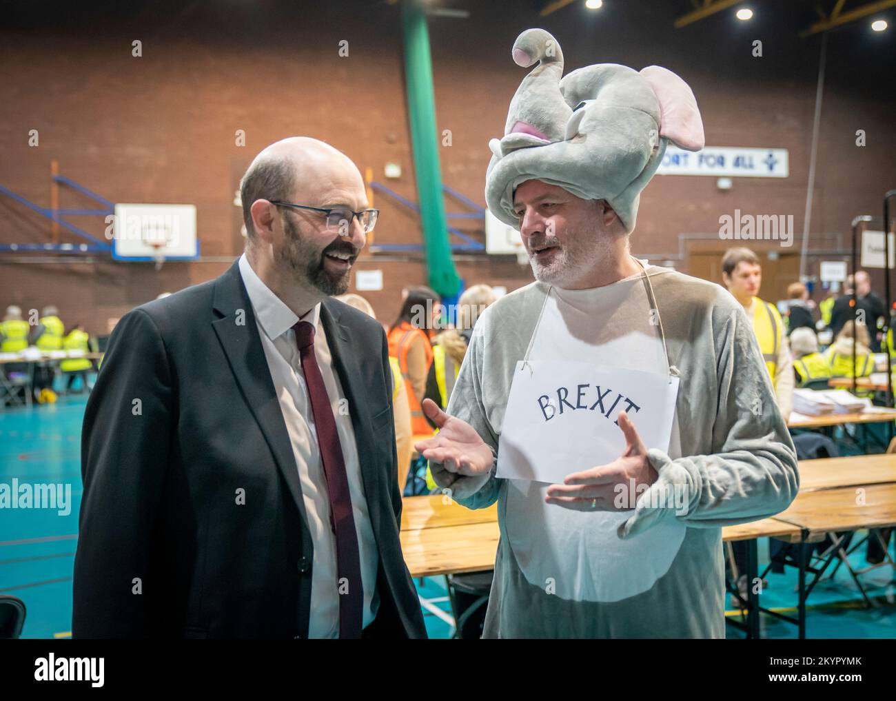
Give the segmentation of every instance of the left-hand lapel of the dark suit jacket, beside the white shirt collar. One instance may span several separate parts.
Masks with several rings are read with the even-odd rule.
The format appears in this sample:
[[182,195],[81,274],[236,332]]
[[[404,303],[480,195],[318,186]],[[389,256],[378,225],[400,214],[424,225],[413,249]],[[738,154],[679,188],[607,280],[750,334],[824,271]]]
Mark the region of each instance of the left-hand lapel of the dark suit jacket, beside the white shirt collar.
[[220,318],[211,325],[307,529],[308,518],[298,479],[296,456],[292,452],[286,422],[274,391],[268,360],[238,262],[218,279],[214,309]]

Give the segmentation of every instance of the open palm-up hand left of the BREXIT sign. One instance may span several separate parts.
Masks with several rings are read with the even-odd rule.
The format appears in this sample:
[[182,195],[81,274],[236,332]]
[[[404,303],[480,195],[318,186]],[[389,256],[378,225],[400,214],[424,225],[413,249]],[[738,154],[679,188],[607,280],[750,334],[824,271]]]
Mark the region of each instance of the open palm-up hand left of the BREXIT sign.
[[418,452],[433,463],[440,463],[448,472],[464,476],[486,474],[492,468],[491,448],[469,423],[442,411],[431,399],[423,400],[423,411],[435,421],[439,432],[434,437],[414,444]]

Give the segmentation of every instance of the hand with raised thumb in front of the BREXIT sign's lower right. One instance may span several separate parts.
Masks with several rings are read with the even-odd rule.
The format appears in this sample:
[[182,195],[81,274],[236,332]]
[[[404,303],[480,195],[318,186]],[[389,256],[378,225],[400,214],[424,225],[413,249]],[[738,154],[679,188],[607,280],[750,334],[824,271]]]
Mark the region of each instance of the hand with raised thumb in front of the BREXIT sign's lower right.
[[[619,412],[617,419],[619,428],[625,434],[625,452],[612,463],[592,467],[590,470],[573,472],[563,484],[552,484],[547,488],[545,501],[576,511],[625,511],[634,508],[634,501],[646,488],[650,487],[659,475],[647,459],[647,447],[644,446],[638,431],[625,411]],[[634,480],[634,493],[631,481]],[[631,498],[626,498],[620,509],[615,505],[616,485],[623,485]]]

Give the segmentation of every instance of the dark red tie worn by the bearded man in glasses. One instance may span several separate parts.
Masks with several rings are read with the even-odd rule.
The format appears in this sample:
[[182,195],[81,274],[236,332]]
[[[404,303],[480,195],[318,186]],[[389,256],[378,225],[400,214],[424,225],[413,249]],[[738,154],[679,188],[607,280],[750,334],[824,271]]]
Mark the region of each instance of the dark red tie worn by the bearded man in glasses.
[[314,358],[314,326],[300,321],[292,327],[296,332],[302,372],[311,399],[317,445],[321,449],[323,474],[330,495],[333,532],[336,534],[336,583],[339,597],[339,633],[341,637],[359,638],[364,622],[364,585],[361,583],[361,558],[358,553],[358,533],[351,508],[349,477],[345,472],[342,446],[336,430],[330,397],[323,384],[321,368]]

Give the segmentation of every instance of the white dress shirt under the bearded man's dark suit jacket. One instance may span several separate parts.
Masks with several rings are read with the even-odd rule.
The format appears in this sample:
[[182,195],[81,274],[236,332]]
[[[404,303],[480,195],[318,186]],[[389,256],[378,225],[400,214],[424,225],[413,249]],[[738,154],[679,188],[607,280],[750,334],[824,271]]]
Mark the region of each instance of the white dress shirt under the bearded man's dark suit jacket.
[[[239,272],[246,284],[249,301],[255,314],[255,323],[262,338],[264,355],[268,360],[274,391],[280,401],[280,411],[289,432],[292,453],[296,457],[298,478],[302,485],[302,498],[308,516],[308,528],[314,543],[314,565],[311,579],[311,611],[308,626],[309,637],[339,636],[339,593],[336,572],[336,536],[330,525],[330,497],[323,473],[320,446],[314,430],[314,415],[302,372],[302,363],[296,346],[296,333],[292,326],[299,317],[277,297],[249,264],[246,254],[239,259]],[[355,529],[358,532],[358,550],[361,564],[361,582],[364,585],[364,626],[375,619],[379,599],[376,596],[376,571],[379,554],[370,514],[361,481],[358,446],[351,425],[350,407],[342,392],[339,377],[332,368],[332,356],[327,345],[326,333],[320,322],[321,305],[318,303],[301,317],[314,325],[314,358],[321,369],[323,384],[330,397],[336,429],[339,433],[342,456],[349,478]],[[341,411],[340,411],[341,410]]]

